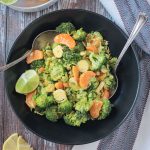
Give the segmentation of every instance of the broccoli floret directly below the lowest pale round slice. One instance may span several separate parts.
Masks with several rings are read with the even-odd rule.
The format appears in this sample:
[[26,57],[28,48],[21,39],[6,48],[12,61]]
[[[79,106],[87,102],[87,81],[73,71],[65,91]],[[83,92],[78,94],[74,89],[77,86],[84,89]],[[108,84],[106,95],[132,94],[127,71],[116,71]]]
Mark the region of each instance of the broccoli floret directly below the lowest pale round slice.
[[72,107],[73,107],[72,103],[68,100],[65,100],[64,102],[58,105],[58,110],[62,113],[70,113]]

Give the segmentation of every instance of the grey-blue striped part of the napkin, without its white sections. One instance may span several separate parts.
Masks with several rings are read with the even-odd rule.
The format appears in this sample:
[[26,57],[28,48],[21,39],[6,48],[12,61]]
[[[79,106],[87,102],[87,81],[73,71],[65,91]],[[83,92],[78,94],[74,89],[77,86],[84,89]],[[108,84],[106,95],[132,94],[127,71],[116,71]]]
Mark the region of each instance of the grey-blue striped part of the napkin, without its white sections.
[[131,32],[139,12],[146,12],[149,21],[136,38],[134,46],[139,53],[141,70],[141,87],[137,103],[126,121],[113,134],[100,140],[98,150],[132,150],[150,89],[150,5],[146,0],[114,2],[128,33]]

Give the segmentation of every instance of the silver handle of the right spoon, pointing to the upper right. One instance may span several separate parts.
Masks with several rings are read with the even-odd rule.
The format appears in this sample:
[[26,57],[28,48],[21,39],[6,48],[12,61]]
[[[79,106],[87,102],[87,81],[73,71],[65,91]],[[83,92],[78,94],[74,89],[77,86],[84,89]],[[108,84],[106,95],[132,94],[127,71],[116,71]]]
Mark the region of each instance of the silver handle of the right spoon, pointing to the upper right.
[[142,13],[142,12],[139,13],[139,16],[138,16],[136,23],[132,29],[132,32],[118,57],[118,60],[115,65],[115,71],[117,70],[117,67],[118,67],[122,57],[124,56],[125,52],[128,50],[130,44],[133,42],[133,40],[135,39],[135,37],[137,36],[139,31],[141,30],[143,25],[146,23],[147,19],[148,19],[148,16],[145,13]]

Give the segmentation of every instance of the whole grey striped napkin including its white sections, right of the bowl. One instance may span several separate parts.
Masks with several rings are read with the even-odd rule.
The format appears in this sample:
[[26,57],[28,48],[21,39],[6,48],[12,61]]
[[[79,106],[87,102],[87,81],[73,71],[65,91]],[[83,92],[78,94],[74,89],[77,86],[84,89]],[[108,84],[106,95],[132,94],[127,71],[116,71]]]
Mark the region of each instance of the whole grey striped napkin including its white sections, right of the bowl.
[[138,46],[134,46],[140,58],[141,87],[132,113],[113,134],[100,141],[74,146],[72,150],[150,150],[150,0],[100,2],[127,34],[139,12],[149,16],[149,21],[135,39]]

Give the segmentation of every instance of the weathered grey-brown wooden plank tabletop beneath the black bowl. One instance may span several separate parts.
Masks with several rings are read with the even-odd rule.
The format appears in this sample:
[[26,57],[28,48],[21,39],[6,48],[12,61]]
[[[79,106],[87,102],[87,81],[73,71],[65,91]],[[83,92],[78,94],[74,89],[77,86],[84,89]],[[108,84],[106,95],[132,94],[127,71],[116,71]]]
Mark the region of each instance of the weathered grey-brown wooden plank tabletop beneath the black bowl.
[[[87,9],[110,18],[99,0],[59,0],[53,6],[34,13],[17,12],[0,4],[0,65],[5,63],[13,42],[30,22],[47,12],[67,8]],[[4,140],[14,132],[21,134],[34,147],[34,150],[70,150],[72,148],[69,145],[48,142],[27,130],[14,114],[4,88],[3,73],[0,73],[0,149]]]

